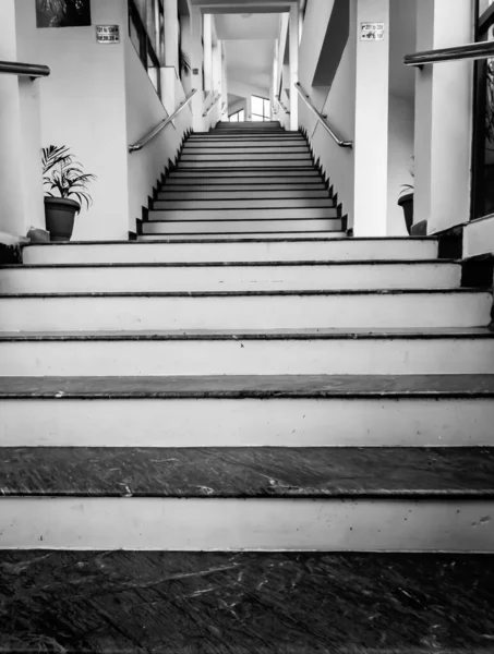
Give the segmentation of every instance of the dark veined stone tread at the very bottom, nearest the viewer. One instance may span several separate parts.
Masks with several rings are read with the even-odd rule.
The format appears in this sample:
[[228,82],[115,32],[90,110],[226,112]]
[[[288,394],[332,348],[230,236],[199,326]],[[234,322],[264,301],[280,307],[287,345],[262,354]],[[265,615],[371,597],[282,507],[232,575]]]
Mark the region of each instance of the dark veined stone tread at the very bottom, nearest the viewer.
[[3,550],[0,570],[0,645],[19,654],[487,654],[494,640],[493,555]]

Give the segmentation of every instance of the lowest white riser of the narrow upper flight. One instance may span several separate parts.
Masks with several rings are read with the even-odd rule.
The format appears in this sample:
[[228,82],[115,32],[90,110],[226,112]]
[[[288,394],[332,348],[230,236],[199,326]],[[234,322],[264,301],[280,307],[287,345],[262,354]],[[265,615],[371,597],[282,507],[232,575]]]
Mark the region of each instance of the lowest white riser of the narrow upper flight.
[[[227,213],[226,210],[225,213]],[[334,209],[325,209],[325,213],[330,214]],[[234,211],[233,211],[234,213]],[[240,213],[240,211],[239,211]],[[341,220],[321,218],[313,219],[305,218],[303,220],[269,220],[266,218],[254,219],[232,219],[228,220],[227,216],[222,219],[214,219],[213,217],[219,218],[218,214],[212,211],[213,216],[208,219],[203,216],[198,220],[194,220],[196,217],[195,211],[165,211],[161,213],[161,218],[158,218],[159,211],[153,211],[154,219],[149,222],[143,223],[144,234],[173,234],[173,233],[245,233],[251,232],[260,234],[262,232],[276,232],[279,230],[293,231],[293,232],[311,232],[311,231],[341,231]],[[188,217],[184,217],[186,214]],[[257,214],[262,214],[258,211]],[[152,214],[149,214],[150,216]],[[156,218],[155,218],[156,216]],[[174,220],[174,222],[173,222]]]

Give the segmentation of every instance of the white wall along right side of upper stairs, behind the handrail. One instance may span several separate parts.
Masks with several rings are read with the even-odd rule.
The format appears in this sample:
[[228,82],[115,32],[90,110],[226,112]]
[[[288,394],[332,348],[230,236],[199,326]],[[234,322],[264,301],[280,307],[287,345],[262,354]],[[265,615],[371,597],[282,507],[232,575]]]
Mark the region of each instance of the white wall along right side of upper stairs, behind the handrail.
[[[316,107],[327,114],[327,121],[346,138],[354,135],[356,102],[356,40],[357,40],[357,0],[350,2],[350,36],[341,57],[340,65],[333,81],[329,93],[327,88],[311,87],[318,55],[323,46],[327,24],[333,11],[333,0],[309,0],[302,40],[300,45],[299,80]],[[303,126],[314,149],[316,159],[338,193],[338,202],[344,205],[344,214],[349,216],[349,227],[353,218],[353,179],[354,153],[340,148],[318,123],[317,119],[299,100],[299,124]]]

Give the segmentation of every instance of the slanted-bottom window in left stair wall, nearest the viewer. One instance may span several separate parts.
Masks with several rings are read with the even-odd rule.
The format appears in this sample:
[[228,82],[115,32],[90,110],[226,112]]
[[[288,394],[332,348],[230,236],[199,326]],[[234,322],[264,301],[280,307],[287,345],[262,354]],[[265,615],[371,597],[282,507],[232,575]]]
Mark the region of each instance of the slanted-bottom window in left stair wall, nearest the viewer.
[[161,96],[160,68],[165,53],[164,0],[129,0],[129,35],[156,93]]

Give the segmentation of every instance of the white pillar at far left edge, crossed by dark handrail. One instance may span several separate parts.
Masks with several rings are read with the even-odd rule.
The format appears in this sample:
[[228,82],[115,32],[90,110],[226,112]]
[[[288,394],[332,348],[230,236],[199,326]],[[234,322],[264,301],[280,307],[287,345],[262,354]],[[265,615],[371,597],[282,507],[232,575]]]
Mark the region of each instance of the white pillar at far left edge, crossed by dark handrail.
[[[34,21],[34,3],[29,9],[29,20]],[[15,0],[1,0],[0,59],[44,63],[31,59],[23,27]],[[13,235],[25,235],[32,226],[45,229],[39,118],[43,82],[0,75],[0,232]]]

